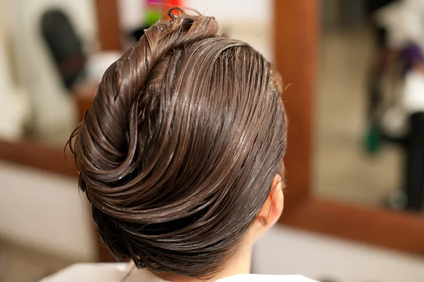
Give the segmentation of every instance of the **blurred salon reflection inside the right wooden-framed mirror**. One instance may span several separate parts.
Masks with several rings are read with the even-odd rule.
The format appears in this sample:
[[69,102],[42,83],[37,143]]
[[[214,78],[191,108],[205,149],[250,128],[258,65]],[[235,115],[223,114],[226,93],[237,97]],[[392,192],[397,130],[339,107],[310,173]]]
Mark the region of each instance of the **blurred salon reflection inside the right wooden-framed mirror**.
[[315,192],[418,211],[424,189],[424,2],[321,5]]

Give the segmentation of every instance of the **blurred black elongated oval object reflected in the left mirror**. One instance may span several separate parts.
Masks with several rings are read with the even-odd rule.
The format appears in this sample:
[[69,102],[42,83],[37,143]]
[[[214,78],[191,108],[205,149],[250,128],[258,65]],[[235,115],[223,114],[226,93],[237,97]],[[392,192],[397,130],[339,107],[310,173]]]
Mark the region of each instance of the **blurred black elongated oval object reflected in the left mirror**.
[[42,16],[42,35],[51,51],[58,71],[68,90],[83,75],[86,54],[69,18],[59,10]]

